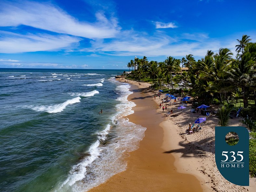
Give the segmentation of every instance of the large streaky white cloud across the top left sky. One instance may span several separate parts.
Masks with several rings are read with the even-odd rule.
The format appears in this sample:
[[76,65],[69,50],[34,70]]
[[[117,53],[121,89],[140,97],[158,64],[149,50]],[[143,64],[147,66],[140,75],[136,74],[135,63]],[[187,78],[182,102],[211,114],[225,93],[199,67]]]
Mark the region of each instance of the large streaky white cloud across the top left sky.
[[0,26],[27,25],[51,32],[85,38],[111,38],[119,32],[117,19],[97,12],[96,22],[81,22],[50,3],[30,1],[3,2],[0,6]]

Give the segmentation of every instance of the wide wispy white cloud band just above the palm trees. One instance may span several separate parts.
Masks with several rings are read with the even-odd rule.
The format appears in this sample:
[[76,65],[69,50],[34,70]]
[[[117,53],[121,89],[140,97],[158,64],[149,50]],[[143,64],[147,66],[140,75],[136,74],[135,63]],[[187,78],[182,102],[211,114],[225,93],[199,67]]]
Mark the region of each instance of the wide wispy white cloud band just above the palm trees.
[[[184,39],[195,39],[196,41],[184,41]],[[230,42],[232,42],[230,39],[225,41],[210,39],[205,33],[185,33],[174,38],[162,32],[150,36],[130,31],[123,34],[121,39],[109,42],[91,41],[92,47],[81,51],[111,56],[185,57],[188,54],[193,54],[197,57],[204,57],[207,50],[217,52],[220,47],[232,48],[233,44]]]

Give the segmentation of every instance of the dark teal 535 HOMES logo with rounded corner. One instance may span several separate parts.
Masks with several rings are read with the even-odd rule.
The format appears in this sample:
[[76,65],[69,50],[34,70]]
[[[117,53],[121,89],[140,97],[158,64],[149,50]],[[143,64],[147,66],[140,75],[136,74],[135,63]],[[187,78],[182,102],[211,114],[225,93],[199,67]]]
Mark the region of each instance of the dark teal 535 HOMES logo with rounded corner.
[[[226,143],[225,136],[229,132],[238,134],[236,145]],[[215,127],[215,161],[226,180],[249,186],[249,133],[245,127]]]

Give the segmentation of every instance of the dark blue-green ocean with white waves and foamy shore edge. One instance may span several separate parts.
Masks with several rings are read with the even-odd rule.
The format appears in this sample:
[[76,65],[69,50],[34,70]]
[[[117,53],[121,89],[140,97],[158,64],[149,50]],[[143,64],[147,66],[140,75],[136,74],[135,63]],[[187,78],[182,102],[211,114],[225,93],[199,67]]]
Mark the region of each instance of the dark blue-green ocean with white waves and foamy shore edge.
[[122,71],[0,69],[0,191],[82,192],[124,171],[146,128],[125,117]]

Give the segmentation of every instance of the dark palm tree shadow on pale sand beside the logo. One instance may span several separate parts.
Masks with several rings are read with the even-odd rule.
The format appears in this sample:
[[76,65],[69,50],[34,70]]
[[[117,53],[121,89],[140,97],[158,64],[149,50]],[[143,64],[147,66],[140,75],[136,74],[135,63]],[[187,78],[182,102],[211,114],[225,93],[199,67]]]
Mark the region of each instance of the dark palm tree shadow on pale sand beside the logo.
[[[182,134],[181,134],[182,135]],[[179,145],[185,148],[174,149],[170,151],[165,151],[163,153],[182,153],[182,157],[198,157],[204,156],[205,152],[215,153],[215,140],[214,137],[208,137],[200,141],[187,143],[185,141],[179,142]]]

